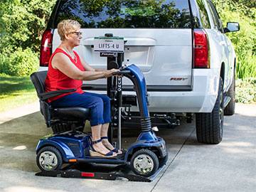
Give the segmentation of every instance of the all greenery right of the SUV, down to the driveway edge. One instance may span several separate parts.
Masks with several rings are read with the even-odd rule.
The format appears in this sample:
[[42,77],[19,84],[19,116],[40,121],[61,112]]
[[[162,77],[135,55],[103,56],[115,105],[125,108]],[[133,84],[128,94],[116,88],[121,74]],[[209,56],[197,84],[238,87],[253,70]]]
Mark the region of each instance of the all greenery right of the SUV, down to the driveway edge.
[[213,0],[223,25],[228,21],[240,23],[240,31],[227,33],[237,54],[235,100],[256,102],[256,1]]

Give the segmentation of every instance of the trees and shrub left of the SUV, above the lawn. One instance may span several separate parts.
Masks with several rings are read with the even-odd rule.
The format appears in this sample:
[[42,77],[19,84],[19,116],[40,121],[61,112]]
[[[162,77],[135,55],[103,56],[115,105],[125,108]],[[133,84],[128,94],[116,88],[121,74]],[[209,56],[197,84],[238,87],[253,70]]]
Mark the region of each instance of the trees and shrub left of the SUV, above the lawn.
[[30,75],[38,68],[41,35],[53,0],[0,1],[0,73]]

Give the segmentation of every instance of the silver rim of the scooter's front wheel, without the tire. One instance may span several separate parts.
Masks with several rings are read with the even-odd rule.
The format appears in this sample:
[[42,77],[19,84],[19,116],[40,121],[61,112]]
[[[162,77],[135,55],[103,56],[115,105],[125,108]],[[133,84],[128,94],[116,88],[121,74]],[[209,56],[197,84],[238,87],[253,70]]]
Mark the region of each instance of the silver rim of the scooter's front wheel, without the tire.
[[154,169],[154,161],[151,156],[140,154],[134,159],[133,166],[139,174],[148,174]]

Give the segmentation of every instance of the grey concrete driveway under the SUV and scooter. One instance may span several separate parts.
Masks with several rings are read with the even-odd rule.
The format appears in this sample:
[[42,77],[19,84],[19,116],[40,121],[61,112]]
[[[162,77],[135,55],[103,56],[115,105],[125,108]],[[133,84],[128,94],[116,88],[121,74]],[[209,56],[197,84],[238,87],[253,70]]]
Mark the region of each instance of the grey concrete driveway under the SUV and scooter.
[[[34,112],[8,122],[3,118],[0,114],[2,192],[256,191],[256,105],[237,105],[235,115],[225,117],[223,142],[218,145],[198,144],[194,122],[160,130],[169,161],[151,183],[35,176],[36,144],[50,133],[41,114]],[[135,134],[124,135],[123,141],[136,139]]]

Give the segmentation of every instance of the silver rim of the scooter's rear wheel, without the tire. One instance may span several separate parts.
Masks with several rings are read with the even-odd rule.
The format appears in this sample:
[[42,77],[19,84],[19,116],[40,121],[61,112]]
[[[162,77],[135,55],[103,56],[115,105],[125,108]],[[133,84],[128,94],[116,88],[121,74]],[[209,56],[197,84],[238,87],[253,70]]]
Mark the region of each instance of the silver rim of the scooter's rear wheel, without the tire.
[[44,170],[50,171],[58,165],[58,158],[51,151],[43,151],[39,156],[39,164]]

